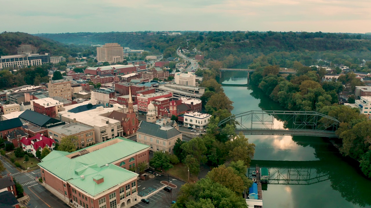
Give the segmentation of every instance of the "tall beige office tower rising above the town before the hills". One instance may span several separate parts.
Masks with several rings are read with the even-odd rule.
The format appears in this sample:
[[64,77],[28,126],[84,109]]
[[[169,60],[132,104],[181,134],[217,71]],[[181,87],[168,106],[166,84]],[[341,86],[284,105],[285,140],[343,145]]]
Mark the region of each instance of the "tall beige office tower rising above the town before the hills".
[[118,43],[106,43],[96,48],[96,59],[99,62],[121,62],[124,60],[124,50]]

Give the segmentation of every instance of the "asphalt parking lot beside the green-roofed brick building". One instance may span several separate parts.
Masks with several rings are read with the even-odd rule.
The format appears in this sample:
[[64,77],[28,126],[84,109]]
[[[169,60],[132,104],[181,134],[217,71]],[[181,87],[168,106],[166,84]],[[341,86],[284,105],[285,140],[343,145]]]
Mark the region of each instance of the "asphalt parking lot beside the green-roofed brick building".
[[[147,171],[149,172],[149,171]],[[138,180],[138,196],[150,201],[148,204],[139,201],[138,204],[132,205],[132,208],[164,208],[170,207],[171,201],[176,200],[177,192],[183,181],[176,180],[175,178],[168,177],[167,174],[155,173],[154,178],[148,180]],[[171,181],[177,188],[172,188],[172,192],[164,191],[166,185],[161,184],[161,181]]]

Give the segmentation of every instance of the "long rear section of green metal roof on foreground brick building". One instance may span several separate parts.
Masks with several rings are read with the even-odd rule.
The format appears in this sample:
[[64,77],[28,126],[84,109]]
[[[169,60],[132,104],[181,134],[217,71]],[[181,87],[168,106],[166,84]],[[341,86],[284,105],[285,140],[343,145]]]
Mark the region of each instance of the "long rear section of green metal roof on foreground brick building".
[[[71,153],[52,151],[45,158],[43,158],[42,162],[40,162],[38,165],[52,172],[62,180],[68,181],[70,179],[79,178],[80,175],[96,174],[97,172],[101,171],[100,167],[103,167],[106,164],[111,164],[112,162],[134,154],[135,152],[149,148],[148,145],[134,142],[123,137],[116,138],[122,141],[72,159],[66,157],[66,155],[73,154],[81,150]],[[111,140],[105,142],[109,141]],[[104,142],[96,145],[101,145],[102,143]],[[92,146],[82,150],[89,149],[91,147]]]

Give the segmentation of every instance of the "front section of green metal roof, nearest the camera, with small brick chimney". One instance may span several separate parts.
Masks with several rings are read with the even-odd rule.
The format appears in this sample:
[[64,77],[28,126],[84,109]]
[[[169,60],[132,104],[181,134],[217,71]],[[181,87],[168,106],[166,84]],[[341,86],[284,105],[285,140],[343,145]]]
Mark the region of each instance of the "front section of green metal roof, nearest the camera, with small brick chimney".
[[[82,191],[95,196],[109,188],[115,187],[125,181],[137,177],[138,174],[128,171],[124,168],[120,168],[114,164],[104,166],[97,173],[90,175],[84,175],[84,179],[76,178],[68,181],[70,184],[75,185]],[[97,184],[93,179],[99,180],[103,178],[103,182]]]

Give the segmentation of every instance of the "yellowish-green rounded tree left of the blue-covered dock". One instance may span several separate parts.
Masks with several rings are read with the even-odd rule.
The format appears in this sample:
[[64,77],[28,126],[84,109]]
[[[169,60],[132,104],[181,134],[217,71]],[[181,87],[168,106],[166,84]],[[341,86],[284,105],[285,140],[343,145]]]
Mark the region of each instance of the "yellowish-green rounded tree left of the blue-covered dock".
[[237,175],[232,167],[226,167],[225,165],[220,165],[217,168],[211,170],[207,175],[212,181],[224,185],[228,189],[240,194],[246,188],[242,178]]

